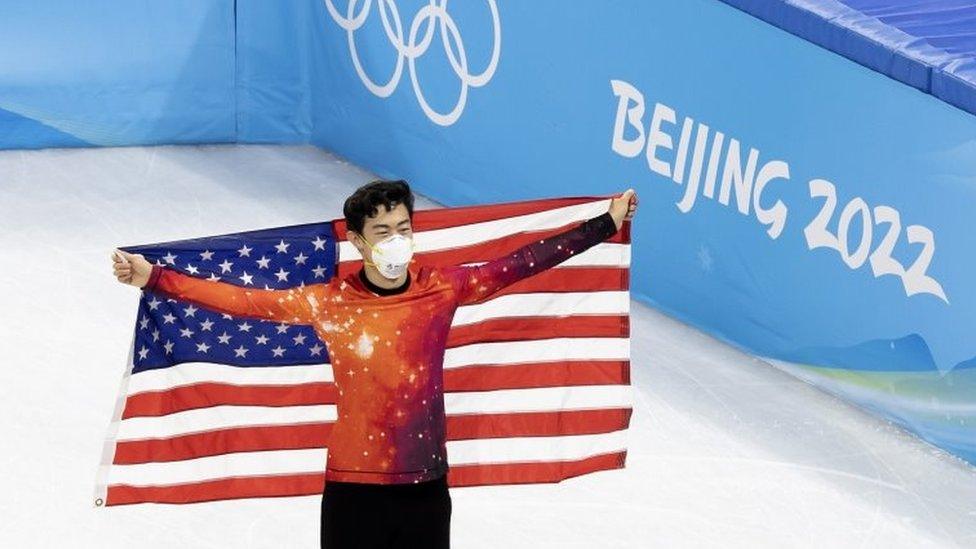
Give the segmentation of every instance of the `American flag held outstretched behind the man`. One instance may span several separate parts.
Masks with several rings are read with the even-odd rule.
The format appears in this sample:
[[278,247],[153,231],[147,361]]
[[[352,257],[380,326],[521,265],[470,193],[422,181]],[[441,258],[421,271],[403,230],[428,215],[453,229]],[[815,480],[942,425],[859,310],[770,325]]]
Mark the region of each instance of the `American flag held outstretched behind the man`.
[[[414,212],[415,257],[474,265],[607,211],[567,197]],[[343,219],[121,248],[192,276],[285,289],[356,272]],[[444,356],[448,484],[624,467],[632,395],[630,221],[455,314]],[[336,418],[311,327],[143,292],[95,505],[321,494]]]

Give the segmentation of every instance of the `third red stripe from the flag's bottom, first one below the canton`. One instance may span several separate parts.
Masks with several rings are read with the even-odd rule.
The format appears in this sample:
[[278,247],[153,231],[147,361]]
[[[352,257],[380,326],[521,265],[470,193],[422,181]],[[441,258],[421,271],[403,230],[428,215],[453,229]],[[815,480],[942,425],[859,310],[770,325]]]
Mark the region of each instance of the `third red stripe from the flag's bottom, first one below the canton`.
[[[328,365],[306,367],[327,368]],[[228,366],[228,368],[233,368]],[[328,374],[328,372],[327,372]],[[331,377],[331,375],[330,375]],[[444,373],[444,390],[490,391],[563,385],[609,385],[630,382],[626,360],[578,360],[539,362],[506,366],[469,366]],[[208,406],[304,406],[335,404],[336,387],[331,382],[297,385],[236,385],[196,383],[163,391],[144,392],[129,398],[122,419],[162,416]]]

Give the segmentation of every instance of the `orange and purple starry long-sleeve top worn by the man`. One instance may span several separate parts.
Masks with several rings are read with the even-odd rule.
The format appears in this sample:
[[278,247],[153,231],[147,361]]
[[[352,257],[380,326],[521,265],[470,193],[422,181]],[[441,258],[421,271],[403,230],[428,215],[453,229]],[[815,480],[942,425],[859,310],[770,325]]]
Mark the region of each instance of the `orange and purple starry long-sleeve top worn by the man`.
[[443,362],[454,312],[617,231],[609,212],[481,265],[412,261],[403,291],[378,295],[356,273],[262,290],[154,265],[144,290],[236,316],[311,325],[338,396],[326,482],[418,483],[447,473]]

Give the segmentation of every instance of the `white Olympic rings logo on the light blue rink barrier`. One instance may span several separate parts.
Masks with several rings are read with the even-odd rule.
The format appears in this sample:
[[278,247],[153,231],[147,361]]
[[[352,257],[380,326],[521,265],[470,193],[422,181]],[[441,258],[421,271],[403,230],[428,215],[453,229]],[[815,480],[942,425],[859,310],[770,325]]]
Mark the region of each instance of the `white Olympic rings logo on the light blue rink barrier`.
[[[339,13],[332,4],[332,0],[324,1],[325,6],[329,10],[329,15],[346,31],[349,52],[352,55],[352,64],[356,68],[356,73],[359,75],[359,79],[362,80],[363,85],[378,97],[389,97],[400,83],[400,77],[403,75],[403,61],[406,59],[407,66],[410,69],[410,82],[413,84],[413,91],[417,96],[417,102],[420,103],[420,108],[423,109],[427,118],[441,126],[450,126],[457,122],[468,100],[468,88],[479,88],[487,84],[495,74],[495,69],[498,67],[498,56],[501,53],[502,37],[501,24],[498,19],[498,6],[495,4],[495,0],[488,0],[488,8],[491,10],[494,31],[491,61],[489,61],[488,67],[480,74],[471,74],[468,72],[468,59],[464,50],[464,41],[461,39],[461,33],[458,31],[454,18],[447,12],[447,0],[430,0],[428,4],[422,7],[410,24],[410,31],[406,41],[404,41],[403,23],[400,20],[400,12],[396,6],[396,0],[376,0],[379,4],[380,19],[383,22],[383,30],[386,32],[386,38],[397,52],[396,67],[393,69],[392,76],[390,76],[390,79],[385,84],[377,84],[366,74],[362,62],[359,59],[359,53],[356,50],[356,31],[363,26],[367,17],[369,17],[373,0],[365,0],[362,9],[358,13],[356,12],[356,5],[359,3],[358,0],[349,0],[345,16]],[[420,27],[425,23],[426,30],[424,30],[423,37],[418,42],[417,38],[420,33]],[[417,80],[416,61],[418,57],[427,53],[427,49],[430,47],[430,43],[434,38],[435,24],[439,24],[441,40],[444,43],[444,51],[447,52],[447,58],[451,63],[451,68],[454,69],[454,73],[461,80],[461,92],[457,103],[455,103],[453,109],[446,113],[435,111],[427,103],[427,99],[420,89],[420,82]],[[457,48],[456,54],[454,49],[451,48],[450,39],[454,40],[454,45]]]

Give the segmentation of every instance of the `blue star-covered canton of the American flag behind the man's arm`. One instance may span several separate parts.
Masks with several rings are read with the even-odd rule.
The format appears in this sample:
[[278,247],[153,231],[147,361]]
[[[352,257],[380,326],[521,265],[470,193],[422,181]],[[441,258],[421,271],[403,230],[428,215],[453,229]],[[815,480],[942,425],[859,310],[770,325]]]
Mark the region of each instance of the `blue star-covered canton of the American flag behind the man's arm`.
[[[120,249],[191,276],[266,290],[327,282],[337,262],[327,222]],[[311,326],[235,317],[151,292],[140,300],[134,341],[133,373],[180,362],[328,362]]]

